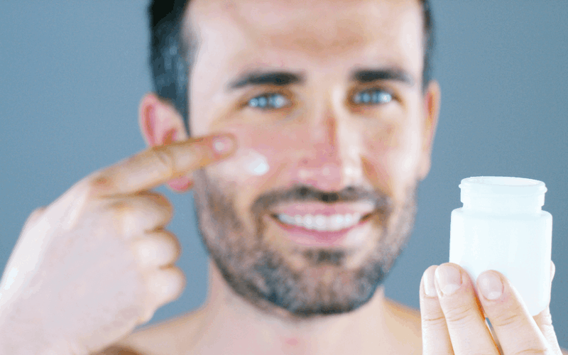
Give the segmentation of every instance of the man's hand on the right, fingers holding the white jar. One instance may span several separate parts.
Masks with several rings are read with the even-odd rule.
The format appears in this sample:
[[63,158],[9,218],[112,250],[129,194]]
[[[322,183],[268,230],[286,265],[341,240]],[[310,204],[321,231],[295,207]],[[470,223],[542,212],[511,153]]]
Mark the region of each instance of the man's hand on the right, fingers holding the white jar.
[[[555,264],[551,262],[550,268],[552,288]],[[452,269],[458,272],[457,278],[445,273]],[[461,280],[461,285],[452,280],[458,285]],[[425,293],[428,282],[433,296]],[[484,288],[487,285],[490,287]],[[474,285],[468,273],[455,263],[430,266],[420,281],[420,313],[423,355],[562,355],[552,327],[550,302],[532,317],[518,291],[497,271],[481,273]]]

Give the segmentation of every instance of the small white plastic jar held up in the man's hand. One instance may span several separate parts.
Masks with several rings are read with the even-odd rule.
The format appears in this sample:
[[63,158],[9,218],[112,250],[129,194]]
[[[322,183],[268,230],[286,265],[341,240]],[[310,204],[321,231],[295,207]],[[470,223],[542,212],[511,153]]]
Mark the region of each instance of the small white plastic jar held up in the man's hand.
[[525,178],[479,176],[461,180],[461,202],[449,231],[449,262],[474,284],[486,270],[513,283],[532,316],[550,301],[552,215],[542,211],[545,183]]

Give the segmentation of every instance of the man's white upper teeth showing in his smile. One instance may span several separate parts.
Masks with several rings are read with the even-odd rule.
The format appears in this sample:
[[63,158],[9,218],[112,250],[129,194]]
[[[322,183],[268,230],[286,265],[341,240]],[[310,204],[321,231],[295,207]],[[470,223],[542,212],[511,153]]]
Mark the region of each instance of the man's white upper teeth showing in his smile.
[[278,219],[286,224],[294,224],[307,229],[316,229],[318,231],[339,231],[339,229],[349,228],[359,223],[361,214],[334,214],[332,216],[324,216],[322,214],[306,214],[300,216],[289,216],[288,214],[278,214]]

